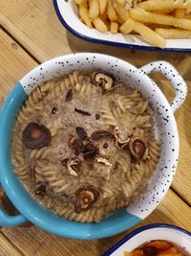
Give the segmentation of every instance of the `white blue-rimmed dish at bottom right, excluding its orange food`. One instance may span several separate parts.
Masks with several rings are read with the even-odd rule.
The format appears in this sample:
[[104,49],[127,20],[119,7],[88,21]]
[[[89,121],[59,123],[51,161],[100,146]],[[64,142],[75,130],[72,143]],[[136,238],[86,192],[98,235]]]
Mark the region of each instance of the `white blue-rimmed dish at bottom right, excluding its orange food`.
[[191,233],[171,224],[149,224],[138,228],[115,244],[103,256],[124,256],[124,251],[131,252],[141,244],[152,240],[166,240],[177,244],[191,255]]

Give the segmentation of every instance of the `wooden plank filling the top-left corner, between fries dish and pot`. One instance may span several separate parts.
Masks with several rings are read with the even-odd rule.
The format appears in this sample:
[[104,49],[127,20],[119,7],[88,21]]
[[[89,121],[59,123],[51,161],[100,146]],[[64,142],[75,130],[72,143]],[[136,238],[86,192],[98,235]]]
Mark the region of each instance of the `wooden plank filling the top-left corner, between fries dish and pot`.
[[132,52],[83,41],[65,30],[55,14],[53,0],[0,0],[0,8],[0,24],[39,61],[84,51],[117,56],[137,66],[156,59],[176,62],[185,56]]

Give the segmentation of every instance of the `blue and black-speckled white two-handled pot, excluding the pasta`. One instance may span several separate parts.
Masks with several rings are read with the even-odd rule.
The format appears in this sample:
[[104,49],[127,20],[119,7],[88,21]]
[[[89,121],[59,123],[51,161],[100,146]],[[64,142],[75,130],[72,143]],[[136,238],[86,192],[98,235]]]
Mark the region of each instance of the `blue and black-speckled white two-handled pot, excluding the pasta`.
[[[19,108],[32,90],[42,81],[68,74],[74,69],[98,69],[112,73],[117,80],[130,84],[148,99],[154,110],[156,136],[161,141],[159,164],[147,191],[127,209],[118,211],[99,223],[79,223],[53,215],[30,197],[12,172],[11,128]],[[160,72],[175,88],[175,99],[169,104],[157,84],[147,74]],[[175,68],[167,62],[156,61],[141,68],[119,58],[101,54],[80,53],[53,58],[34,68],[19,81],[0,110],[0,183],[21,215],[7,216],[0,210],[0,225],[16,225],[24,221],[52,232],[75,239],[98,239],[113,236],[146,218],[167,192],[179,157],[179,134],[173,112],[182,104],[187,94],[185,82]]]

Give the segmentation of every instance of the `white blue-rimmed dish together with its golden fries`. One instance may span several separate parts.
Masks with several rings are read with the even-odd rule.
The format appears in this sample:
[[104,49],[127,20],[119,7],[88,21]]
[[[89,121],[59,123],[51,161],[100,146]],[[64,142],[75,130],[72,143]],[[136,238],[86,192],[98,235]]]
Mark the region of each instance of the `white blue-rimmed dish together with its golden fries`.
[[53,0],[61,23],[81,39],[147,51],[191,51],[189,0]]

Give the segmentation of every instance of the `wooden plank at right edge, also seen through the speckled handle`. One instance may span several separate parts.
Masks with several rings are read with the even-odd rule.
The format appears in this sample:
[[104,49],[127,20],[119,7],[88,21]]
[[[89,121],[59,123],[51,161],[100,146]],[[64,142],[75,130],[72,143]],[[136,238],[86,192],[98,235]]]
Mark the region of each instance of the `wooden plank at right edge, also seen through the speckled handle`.
[[[177,59],[175,64],[177,70],[180,72],[181,76],[187,83],[188,86],[188,94],[183,105],[180,106],[180,109],[175,113],[175,118],[178,125],[178,130],[180,134],[180,159],[178,164],[178,169],[176,175],[174,177],[172,188],[176,193],[180,195],[183,200],[185,200],[191,206],[191,73],[190,73],[190,65],[191,65],[191,56],[186,56],[181,60]],[[170,88],[169,82],[164,81],[159,74],[155,74],[153,77],[158,81],[161,90],[164,92],[164,95],[167,96],[168,100],[173,99],[173,90]]]

